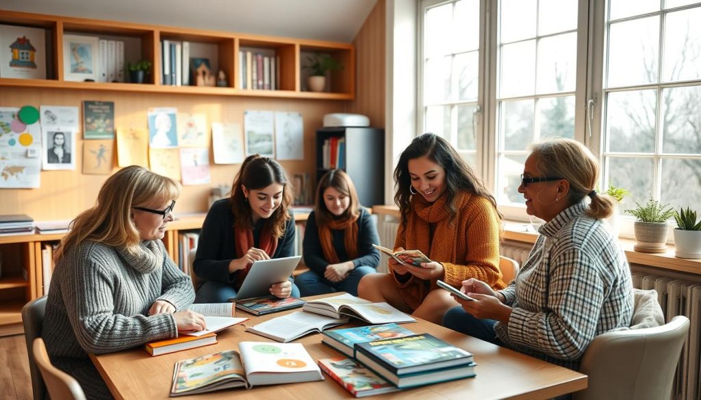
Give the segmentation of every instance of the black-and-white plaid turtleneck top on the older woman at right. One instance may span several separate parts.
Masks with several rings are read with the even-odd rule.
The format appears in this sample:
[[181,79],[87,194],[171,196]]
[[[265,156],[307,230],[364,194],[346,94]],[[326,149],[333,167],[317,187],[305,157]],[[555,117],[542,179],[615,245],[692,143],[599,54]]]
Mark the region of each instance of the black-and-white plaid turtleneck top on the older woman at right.
[[494,329],[505,345],[577,369],[594,336],[629,326],[630,270],[618,240],[584,202],[545,223],[517,279],[503,289],[513,308]]

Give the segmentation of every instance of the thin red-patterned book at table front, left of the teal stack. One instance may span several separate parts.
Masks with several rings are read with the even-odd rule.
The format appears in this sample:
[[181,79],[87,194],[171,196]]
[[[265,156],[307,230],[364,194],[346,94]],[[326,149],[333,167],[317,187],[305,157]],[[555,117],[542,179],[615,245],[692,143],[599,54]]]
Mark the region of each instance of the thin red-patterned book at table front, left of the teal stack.
[[395,385],[346,357],[319,359],[319,366],[321,371],[339,382],[343,389],[348,390],[355,397],[374,396],[399,390]]

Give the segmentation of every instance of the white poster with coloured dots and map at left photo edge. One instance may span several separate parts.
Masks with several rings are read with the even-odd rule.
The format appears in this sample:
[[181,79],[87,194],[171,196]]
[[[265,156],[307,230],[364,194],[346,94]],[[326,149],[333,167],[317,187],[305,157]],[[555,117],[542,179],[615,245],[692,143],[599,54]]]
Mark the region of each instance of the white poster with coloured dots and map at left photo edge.
[[41,127],[22,123],[19,111],[0,107],[0,188],[39,187]]

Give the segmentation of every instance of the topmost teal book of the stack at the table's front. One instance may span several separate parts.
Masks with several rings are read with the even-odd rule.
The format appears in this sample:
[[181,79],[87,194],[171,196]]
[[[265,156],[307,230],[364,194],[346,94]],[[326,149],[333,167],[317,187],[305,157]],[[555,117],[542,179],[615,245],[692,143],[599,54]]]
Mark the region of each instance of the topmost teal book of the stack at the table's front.
[[394,375],[433,371],[472,363],[472,353],[428,333],[356,343],[355,356],[364,364],[365,361],[373,361],[374,364],[378,364]]

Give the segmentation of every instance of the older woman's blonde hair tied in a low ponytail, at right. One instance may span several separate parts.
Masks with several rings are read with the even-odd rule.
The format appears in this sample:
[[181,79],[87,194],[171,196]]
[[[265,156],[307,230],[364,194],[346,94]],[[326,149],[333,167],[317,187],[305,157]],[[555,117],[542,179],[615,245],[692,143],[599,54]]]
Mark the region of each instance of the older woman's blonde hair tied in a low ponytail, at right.
[[572,139],[555,138],[531,145],[538,172],[547,177],[569,181],[569,205],[591,198],[587,215],[602,219],[611,215],[615,200],[604,193],[590,195],[599,181],[599,160],[584,144]]

